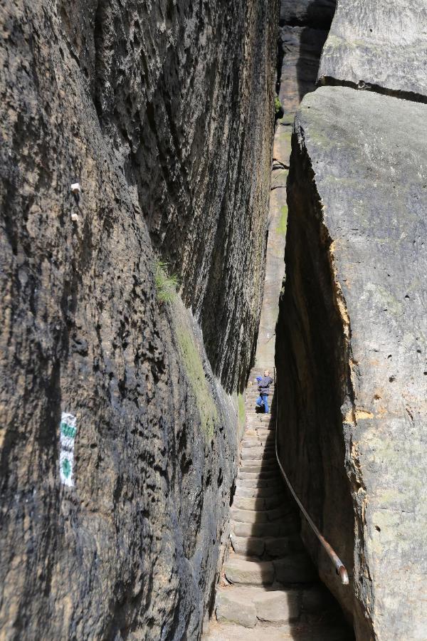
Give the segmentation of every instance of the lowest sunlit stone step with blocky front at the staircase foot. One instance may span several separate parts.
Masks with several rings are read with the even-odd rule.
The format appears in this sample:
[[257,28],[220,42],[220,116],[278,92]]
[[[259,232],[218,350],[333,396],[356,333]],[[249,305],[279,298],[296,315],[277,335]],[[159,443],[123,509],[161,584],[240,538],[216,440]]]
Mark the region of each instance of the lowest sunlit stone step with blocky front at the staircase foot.
[[218,590],[215,613],[218,621],[233,621],[251,628],[259,622],[277,624],[297,619],[300,603],[298,590],[266,590],[235,585]]

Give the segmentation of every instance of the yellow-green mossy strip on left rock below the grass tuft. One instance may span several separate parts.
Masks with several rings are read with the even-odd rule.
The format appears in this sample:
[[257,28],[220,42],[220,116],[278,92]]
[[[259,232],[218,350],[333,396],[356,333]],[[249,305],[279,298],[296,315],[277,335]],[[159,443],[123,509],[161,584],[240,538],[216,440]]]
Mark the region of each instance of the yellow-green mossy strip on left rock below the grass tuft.
[[196,397],[196,407],[201,417],[201,426],[207,439],[214,436],[214,427],[218,419],[218,412],[214,398],[201,362],[201,356],[191,332],[187,328],[179,327],[176,330],[179,349],[184,359],[186,375]]

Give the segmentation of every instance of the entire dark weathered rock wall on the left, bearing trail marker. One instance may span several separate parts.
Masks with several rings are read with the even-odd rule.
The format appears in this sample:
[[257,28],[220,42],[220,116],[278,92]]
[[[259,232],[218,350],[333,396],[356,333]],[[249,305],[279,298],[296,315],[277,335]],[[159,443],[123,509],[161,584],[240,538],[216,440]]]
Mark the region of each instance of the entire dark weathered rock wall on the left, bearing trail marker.
[[[1,6],[3,638],[199,637],[236,472],[209,360],[231,390],[253,350],[277,19],[273,0]],[[157,301],[157,252],[204,344]]]

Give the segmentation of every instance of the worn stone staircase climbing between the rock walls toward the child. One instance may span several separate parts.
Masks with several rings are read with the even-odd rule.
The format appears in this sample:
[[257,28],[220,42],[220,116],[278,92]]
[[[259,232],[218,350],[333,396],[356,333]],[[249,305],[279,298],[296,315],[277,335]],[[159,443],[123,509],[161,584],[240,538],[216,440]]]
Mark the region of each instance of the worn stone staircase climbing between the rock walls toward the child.
[[216,592],[216,621],[205,638],[351,640],[304,550],[300,518],[275,459],[273,385],[271,413],[255,411],[260,371],[251,371],[246,392],[246,431],[231,507],[232,548]]

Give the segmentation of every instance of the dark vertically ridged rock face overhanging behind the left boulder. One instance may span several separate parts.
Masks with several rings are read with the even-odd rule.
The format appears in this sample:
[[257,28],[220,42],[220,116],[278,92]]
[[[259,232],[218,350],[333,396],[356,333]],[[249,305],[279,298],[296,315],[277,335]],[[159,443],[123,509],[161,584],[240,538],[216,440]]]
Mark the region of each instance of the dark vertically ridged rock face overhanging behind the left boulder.
[[246,381],[262,297],[276,4],[64,1],[59,12],[70,67],[230,390]]

